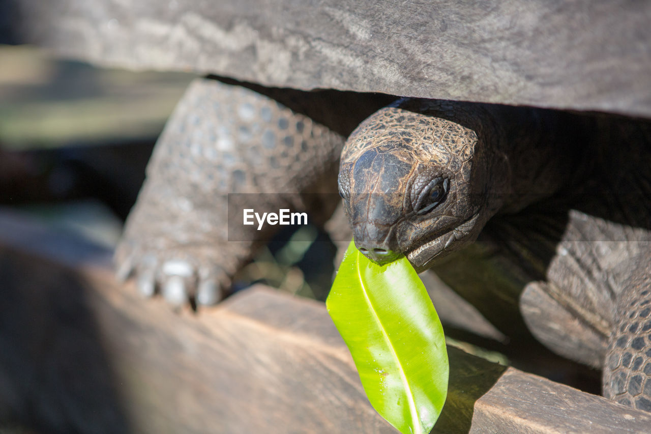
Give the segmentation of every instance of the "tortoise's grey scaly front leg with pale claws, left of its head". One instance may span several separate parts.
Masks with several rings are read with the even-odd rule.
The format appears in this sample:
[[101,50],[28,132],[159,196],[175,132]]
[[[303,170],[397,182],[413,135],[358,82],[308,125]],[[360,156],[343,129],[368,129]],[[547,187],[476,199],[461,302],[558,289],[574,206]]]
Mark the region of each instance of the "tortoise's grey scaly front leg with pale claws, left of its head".
[[[148,164],[115,254],[118,276],[135,274],[143,295],[160,292],[174,305],[189,297],[199,304],[219,301],[260,244],[254,226],[229,233],[228,194],[249,193],[238,198],[253,209],[261,193],[268,194],[268,207],[308,207],[297,203],[298,194],[337,192],[343,141],[268,96],[195,80]],[[323,196],[324,214],[337,198]]]

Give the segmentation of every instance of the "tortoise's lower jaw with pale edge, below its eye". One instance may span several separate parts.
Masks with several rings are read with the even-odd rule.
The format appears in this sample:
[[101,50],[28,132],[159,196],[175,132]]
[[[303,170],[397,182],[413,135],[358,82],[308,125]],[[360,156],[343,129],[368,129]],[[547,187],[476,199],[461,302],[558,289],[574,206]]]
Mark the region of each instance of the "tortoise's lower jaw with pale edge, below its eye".
[[465,246],[473,240],[473,237],[471,237],[472,229],[475,227],[478,218],[479,214],[474,214],[449,231],[435,235],[434,239],[405,253],[409,263],[415,268],[416,272],[421,273],[432,267],[437,259]]

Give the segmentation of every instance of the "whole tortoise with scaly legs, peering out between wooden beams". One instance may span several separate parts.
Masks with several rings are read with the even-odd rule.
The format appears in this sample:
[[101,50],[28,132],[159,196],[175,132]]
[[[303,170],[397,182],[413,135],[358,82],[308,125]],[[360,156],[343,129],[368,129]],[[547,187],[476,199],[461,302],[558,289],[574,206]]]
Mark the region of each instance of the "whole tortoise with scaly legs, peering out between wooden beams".
[[[118,275],[173,305],[214,304],[261,244],[255,227],[229,227],[229,194],[242,193],[244,209],[260,205],[251,193],[275,193],[266,205],[307,210],[317,224],[342,201],[370,259],[404,254],[455,289],[493,285],[484,292],[497,299],[524,288],[521,311],[539,340],[603,366],[606,396],[651,411],[650,124],[414,98],[386,106],[394,99],[196,80],[156,145]],[[490,251],[484,265],[475,255],[450,273],[450,257],[467,265],[476,239]],[[486,263],[508,264],[509,276],[473,276]]]

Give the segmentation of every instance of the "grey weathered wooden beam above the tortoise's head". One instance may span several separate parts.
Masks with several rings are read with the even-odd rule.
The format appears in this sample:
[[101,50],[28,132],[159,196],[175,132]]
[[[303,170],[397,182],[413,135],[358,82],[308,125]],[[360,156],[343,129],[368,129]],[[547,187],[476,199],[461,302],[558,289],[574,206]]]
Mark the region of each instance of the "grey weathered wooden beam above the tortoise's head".
[[644,1],[12,1],[23,40],[101,65],[651,116]]

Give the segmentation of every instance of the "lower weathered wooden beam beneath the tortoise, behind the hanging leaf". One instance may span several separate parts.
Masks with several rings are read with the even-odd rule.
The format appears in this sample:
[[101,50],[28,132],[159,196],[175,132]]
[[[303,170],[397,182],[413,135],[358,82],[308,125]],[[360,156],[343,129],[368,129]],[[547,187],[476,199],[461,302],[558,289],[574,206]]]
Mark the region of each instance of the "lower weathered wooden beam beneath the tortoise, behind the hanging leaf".
[[[323,304],[258,287],[199,315],[174,313],[117,285],[109,256],[0,214],[1,418],[62,433],[395,432],[368,404]],[[651,424],[651,414],[449,355],[434,432]]]

